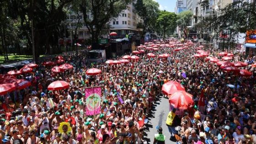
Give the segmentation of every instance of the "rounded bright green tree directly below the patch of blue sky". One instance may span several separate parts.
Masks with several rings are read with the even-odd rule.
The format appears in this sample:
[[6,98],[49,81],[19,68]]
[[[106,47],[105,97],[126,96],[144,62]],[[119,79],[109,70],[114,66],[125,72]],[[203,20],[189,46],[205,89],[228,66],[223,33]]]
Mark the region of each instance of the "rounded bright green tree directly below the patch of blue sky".
[[165,39],[166,32],[174,32],[176,29],[177,16],[174,12],[160,11],[156,20],[163,30],[163,36]]

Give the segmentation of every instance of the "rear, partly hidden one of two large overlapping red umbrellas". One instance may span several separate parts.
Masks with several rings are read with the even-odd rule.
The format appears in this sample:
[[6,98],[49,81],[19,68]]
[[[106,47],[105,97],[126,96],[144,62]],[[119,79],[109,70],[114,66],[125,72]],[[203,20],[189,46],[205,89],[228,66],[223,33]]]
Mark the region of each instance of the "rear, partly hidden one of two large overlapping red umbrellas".
[[176,91],[185,91],[185,88],[180,83],[170,80],[162,86],[162,91],[165,95],[171,95]]

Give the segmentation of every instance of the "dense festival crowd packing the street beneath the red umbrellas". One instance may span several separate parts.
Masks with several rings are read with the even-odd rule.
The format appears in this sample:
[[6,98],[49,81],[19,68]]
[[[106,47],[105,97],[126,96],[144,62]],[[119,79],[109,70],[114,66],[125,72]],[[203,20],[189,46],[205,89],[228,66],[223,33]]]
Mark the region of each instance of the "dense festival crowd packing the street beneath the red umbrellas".
[[[169,53],[168,60],[142,53],[139,60],[118,65],[87,64],[82,54],[64,56],[74,69],[62,73],[39,64],[33,73],[17,76],[31,81],[31,87],[1,98],[0,144],[146,144],[145,120],[161,94],[161,85],[168,80],[180,82],[194,101],[182,112],[172,108],[173,122],[168,126],[172,141],[256,144],[256,70],[251,67],[255,57],[229,52],[234,53],[231,61],[248,63],[244,69],[253,75],[242,77],[194,58],[195,48],[174,52],[174,48],[159,47],[152,53]],[[204,50],[219,57],[216,49]],[[89,68],[101,69],[101,74],[86,75]],[[48,85],[56,80],[68,82],[69,88],[48,91]],[[85,112],[85,88],[91,86],[102,89],[101,113],[96,116]],[[157,130],[162,133],[162,128]]]

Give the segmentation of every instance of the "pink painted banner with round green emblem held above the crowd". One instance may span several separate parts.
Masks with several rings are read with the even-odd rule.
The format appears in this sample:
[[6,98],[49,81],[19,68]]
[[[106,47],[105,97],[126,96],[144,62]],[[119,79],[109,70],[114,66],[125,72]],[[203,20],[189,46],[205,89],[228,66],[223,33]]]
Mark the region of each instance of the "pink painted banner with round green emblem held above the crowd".
[[85,89],[86,115],[92,116],[101,112],[101,87]]

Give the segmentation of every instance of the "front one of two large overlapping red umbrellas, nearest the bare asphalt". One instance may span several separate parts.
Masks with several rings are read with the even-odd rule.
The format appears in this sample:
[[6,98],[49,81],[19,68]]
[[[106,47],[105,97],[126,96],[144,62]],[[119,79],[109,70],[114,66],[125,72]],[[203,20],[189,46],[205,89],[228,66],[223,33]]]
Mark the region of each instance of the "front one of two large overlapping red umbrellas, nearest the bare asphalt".
[[194,104],[192,95],[186,91],[176,91],[169,96],[169,102],[173,107],[179,109],[187,109]]

